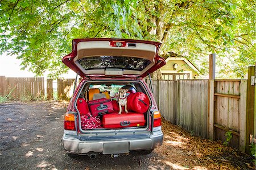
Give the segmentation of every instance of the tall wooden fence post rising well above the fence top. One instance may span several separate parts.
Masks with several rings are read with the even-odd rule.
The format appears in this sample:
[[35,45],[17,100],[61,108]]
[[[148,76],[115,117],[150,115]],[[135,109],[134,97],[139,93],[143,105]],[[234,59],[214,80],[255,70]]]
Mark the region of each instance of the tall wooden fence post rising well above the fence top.
[[209,55],[209,82],[208,82],[208,138],[214,140],[214,79],[216,55]]

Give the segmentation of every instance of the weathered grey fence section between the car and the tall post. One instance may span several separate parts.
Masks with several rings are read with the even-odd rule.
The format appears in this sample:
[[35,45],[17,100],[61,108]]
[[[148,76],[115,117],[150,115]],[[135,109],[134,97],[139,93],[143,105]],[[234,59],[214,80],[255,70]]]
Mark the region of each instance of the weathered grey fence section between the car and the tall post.
[[207,138],[208,80],[152,80],[152,86],[164,118]]

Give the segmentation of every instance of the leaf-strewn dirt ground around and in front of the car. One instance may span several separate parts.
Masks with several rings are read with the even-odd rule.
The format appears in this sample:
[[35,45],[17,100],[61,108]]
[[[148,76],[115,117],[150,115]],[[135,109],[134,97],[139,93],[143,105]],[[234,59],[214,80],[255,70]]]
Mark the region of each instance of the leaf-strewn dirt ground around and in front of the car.
[[0,104],[0,169],[250,169],[252,157],[193,137],[163,121],[164,144],[150,155],[71,158],[61,145],[65,104]]

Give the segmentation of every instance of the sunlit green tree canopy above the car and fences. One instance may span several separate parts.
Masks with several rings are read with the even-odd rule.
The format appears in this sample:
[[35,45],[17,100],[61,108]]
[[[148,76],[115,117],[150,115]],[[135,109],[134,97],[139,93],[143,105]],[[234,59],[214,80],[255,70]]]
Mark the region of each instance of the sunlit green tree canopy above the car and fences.
[[[250,0],[1,1],[1,51],[49,77],[67,71],[61,59],[74,38],[130,38],[162,42],[207,73],[209,52],[220,73],[242,77],[255,62],[255,2]],[[221,75],[220,75],[221,76]]]

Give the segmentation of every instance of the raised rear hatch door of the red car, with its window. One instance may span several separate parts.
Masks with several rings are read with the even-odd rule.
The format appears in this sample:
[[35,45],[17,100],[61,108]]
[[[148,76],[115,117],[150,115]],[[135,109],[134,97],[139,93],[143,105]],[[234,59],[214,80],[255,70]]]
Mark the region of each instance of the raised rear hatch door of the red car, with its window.
[[161,43],[130,39],[74,39],[63,63],[81,77],[146,77],[166,64]]

